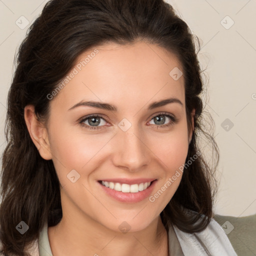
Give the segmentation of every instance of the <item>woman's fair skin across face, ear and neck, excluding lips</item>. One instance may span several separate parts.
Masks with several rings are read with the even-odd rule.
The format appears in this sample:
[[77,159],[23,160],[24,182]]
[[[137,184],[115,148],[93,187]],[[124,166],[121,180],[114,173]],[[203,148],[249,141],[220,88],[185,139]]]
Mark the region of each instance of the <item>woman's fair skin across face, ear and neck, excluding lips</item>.
[[[185,162],[193,127],[188,131],[184,78],[174,80],[169,75],[174,67],[182,67],[174,54],[143,41],[125,46],[109,43],[97,49],[95,57],[50,100],[47,125],[36,120],[32,105],[24,109],[31,139],[41,157],[52,159],[60,181],[63,217],[48,227],[52,253],[168,255],[167,232],[159,214],[182,175],[154,202],[148,198],[136,203],[117,201],[98,189],[96,182],[150,177],[157,179],[153,195]],[[81,54],[77,63],[92,51]],[[178,98],[182,105],[173,102],[147,109],[150,103],[169,97]],[[117,111],[91,106],[68,110],[81,100],[107,102]],[[162,111],[177,121],[165,116],[164,123],[171,125],[159,127],[162,124],[152,118]],[[89,130],[78,123],[89,114],[103,115],[101,129]],[[127,131],[118,126],[123,118],[131,123]],[[67,178],[72,169],[80,175],[74,183]],[[130,226],[127,233],[118,228],[123,221]]]

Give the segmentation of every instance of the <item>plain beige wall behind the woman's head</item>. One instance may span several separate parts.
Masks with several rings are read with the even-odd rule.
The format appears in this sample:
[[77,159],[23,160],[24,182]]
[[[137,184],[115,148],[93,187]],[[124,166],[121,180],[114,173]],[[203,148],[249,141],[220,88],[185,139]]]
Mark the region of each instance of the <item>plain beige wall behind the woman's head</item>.
[[[22,26],[26,20],[31,24],[46,2],[0,0],[0,153],[14,54],[29,25]],[[256,213],[256,0],[167,2],[201,40],[199,60],[209,79],[206,107],[220,149],[215,210],[234,216]]]

